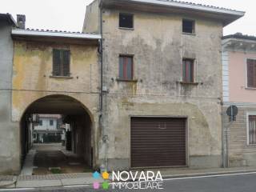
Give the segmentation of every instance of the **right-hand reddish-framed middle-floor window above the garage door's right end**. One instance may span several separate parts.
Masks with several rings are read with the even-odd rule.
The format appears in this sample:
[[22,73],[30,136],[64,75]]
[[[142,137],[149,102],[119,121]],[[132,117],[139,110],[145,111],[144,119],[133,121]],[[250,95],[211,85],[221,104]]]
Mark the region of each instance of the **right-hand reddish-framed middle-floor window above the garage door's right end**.
[[194,59],[183,59],[183,82],[194,82]]

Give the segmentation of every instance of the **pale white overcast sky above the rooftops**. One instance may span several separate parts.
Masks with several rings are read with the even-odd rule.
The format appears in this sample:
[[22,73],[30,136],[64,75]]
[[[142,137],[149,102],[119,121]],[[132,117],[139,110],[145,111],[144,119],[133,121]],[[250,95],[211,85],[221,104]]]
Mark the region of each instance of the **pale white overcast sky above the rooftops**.
[[[93,0],[1,0],[0,13],[26,14],[26,27],[34,29],[82,31],[86,5]],[[186,0],[246,11],[246,16],[226,26],[224,34],[256,35],[254,0]]]

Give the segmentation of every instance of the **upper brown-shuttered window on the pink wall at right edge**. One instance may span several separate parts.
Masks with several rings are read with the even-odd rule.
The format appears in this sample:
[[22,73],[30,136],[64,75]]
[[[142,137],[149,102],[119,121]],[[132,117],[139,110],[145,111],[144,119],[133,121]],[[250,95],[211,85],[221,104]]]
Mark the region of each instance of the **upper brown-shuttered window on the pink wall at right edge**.
[[247,59],[247,87],[256,88],[256,59]]

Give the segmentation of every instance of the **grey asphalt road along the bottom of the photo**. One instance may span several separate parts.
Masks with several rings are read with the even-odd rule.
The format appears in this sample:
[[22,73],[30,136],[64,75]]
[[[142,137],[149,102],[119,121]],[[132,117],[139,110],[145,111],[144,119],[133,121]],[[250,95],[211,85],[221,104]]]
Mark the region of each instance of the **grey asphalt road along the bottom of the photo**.
[[[91,186],[73,186],[48,188],[38,190],[17,190],[28,192],[103,192],[103,191],[162,191],[162,192],[255,192],[256,191],[256,173],[253,174],[230,174],[217,175],[198,178],[174,178],[163,182],[163,190],[94,190]],[[0,190],[16,191],[16,190]]]

